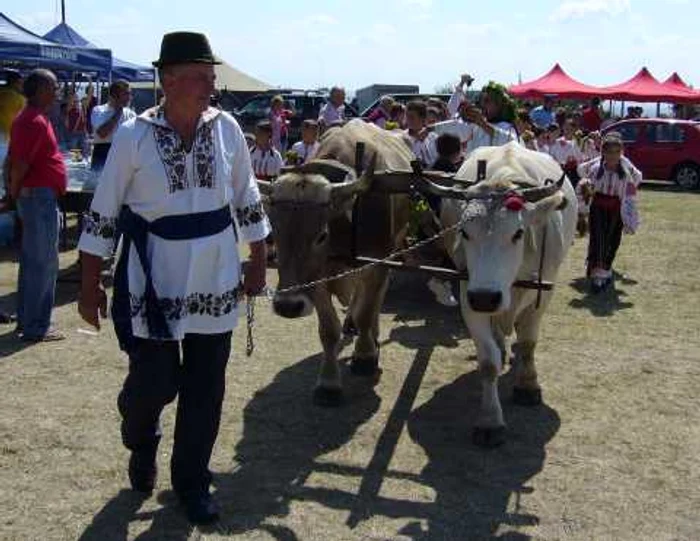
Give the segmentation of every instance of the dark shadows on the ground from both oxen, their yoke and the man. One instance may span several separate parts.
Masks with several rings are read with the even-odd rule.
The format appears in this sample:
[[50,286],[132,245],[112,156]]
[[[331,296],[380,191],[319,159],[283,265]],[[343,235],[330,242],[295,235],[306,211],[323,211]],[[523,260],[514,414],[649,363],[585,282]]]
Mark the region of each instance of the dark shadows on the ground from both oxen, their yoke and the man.
[[[320,355],[304,359],[282,370],[245,407],[243,436],[235,448],[236,467],[214,476],[223,517],[216,533],[233,536],[258,531],[280,541],[296,541],[300,533],[280,522],[295,501],[308,501],[346,512],[351,531],[373,516],[386,516],[408,519],[397,534],[417,540],[527,538],[494,535],[501,526],[537,523],[536,516],[518,511],[517,502],[515,510],[508,512],[508,504],[512,495],[517,499],[528,491],[527,481],[542,469],[545,444],[559,428],[558,415],[547,406],[511,407],[507,389],[512,382],[507,375],[502,378],[501,393],[506,397],[509,440],[491,451],[476,448],[470,440],[474,416],[469,414],[477,410],[481,396],[475,372],[442,387],[431,400],[413,409],[434,347],[466,346],[458,311],[435,306],[430,292],[418,285],[392,290],[384,311],[396,314],[396,320],[404,323],[392,328],[387,342],[401,343],[414,356],[368,464],[330,463],[322,457],[347,444],[377,412],[380,398],[374,387],[346,374],[346,404],[340,409],[318,408],[308,391],[315,382]],[[416,325],[421,319],[423,324]],[[420,474],[390,468],[406,427],[429,460]],[[355,493],[307,486],[312,473],[360,478],[360,487]],[[388,478],[427,485],[435,492],[435,500],[380,495]],[[95,515],[80,540],[124,541],[130,522],[139,520],[151,521],[148,530],[136,538],[140,541],[188,539],[192,529],[173,494],[160,493],[159,502],[163,507],[157,511],[140,513],[142,500],[130,491],[120,491]]]

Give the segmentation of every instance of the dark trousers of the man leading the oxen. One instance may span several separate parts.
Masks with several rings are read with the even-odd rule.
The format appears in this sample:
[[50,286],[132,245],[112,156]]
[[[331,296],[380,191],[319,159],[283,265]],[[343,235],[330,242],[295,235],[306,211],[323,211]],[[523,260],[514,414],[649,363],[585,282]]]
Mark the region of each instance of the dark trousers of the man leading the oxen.
[[[182,359],[180,355],[182,346]],[[161,437],[160,414],[179,395],[170,473],[180,494],[207,491],[209,459],[219,433],[231,332],[188,334],[182,342],[136,339],[119,394],[122,441],[152,453]]]

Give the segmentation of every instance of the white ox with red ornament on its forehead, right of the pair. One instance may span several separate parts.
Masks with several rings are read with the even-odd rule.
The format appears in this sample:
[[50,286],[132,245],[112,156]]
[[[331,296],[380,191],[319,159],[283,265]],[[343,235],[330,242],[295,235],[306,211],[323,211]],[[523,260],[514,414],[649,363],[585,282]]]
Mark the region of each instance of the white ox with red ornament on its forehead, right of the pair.
[[513,332],[513,399],[522,405],[542,400],[534,351],[552,291],[542,291],[538,306],[537,291],[514,288],[513,283],[536,280],[540,265],[542,280],[554,282],[574,239],[577,202],[561,168],[547,155],[516,143],[480,148],[457,179],[476,179],[480,160],[487,164],[484,179],[468,189],[466,200],[443,199],[441,218],[445,226],[463,220],[448,246],[457,267],[469,273],[461,305],[476,344],[483,387],[474,440],[494,446],[505,438],[497,382],[507,356],[505,339]]

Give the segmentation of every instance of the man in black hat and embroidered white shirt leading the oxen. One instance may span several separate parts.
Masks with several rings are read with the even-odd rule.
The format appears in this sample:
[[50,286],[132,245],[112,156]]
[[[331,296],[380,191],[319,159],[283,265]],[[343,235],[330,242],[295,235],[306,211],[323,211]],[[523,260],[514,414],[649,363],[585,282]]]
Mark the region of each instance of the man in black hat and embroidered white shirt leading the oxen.
[[[135,490],[153,490],[159,417],[179,395],[171,480],[195,524],[218,518],[208,464],[231,331],[241,297],[264,288],[270,231],[243,132],[209,106],[216,63],[204,35],[164,36],[154,62],[164,104],[116,133],[79,245],[79,310],[99,328],[106,312],[100,267],[118,220],[112,319],[129,355],[118,400],[129,478]],[[243,281],[239,236],[251,247]]]

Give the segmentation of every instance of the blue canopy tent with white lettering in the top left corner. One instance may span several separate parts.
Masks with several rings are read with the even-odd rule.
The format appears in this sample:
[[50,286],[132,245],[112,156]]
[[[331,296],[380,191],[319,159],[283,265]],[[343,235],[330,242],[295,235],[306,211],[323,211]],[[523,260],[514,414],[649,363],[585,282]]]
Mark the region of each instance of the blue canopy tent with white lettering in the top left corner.
[[0,64],[91,72],[109,77],[112,51],[61,45],[34,34],[0,13]]

